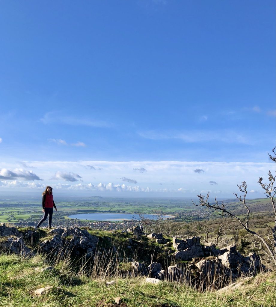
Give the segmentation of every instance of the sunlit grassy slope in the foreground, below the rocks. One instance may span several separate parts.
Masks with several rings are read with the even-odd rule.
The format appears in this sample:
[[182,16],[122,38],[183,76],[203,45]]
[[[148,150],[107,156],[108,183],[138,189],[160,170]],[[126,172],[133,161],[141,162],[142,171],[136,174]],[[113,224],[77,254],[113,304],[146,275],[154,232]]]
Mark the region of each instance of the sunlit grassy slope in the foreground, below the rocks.
[[[0,306],[115,306],[114,297],[121,297],[121,306],[128,307],[189,307],[276,305],[275,274],[262,274],[227,295],[206,291],[200,293],[183,284],[171,282],[159,285],[144,283],[144,278],[116,279],[114,286],[105,286],[104,277],[80,276],[65,263],[57,263],[50,272],[34,270],[46,267],[44,257],[21,260],[14,255],[0,256]],[[38,297],[37,288],[53,286],[52,291]]]

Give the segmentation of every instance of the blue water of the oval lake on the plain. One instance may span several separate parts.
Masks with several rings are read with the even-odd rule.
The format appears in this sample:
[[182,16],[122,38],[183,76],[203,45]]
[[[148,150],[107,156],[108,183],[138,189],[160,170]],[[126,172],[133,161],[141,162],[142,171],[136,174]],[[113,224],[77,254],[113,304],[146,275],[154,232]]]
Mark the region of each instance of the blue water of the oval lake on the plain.
[[[71,219],[89,220],[89,221],[122,221],[122,220],[139,220],[139,214],[132,213],[84,213],[69,215]],[[162,218],[168,219],[172,216],[163,215]],[[144,214],[144,218],[157,220],[157,216],[154,214]]]

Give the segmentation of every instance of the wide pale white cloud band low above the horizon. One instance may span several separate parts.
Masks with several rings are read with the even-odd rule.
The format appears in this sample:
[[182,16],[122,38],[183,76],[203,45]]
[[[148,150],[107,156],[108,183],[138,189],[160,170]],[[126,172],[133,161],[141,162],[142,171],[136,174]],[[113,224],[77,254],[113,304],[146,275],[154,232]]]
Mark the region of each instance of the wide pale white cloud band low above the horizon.
[[[18,162],[16,162],[18,163]],[[248,193],[251,197],[262,197],[263,193],[257,183],[259,177],[264,180],[267,172],[276,170],[276,165],[270,162],[214,162],[214,161],[29,161],[28,164],[37,169],[41,177],[47,181],[42,182],[45,186],[56,186],[59,191],[99,191],[108,192],[130,192],[142,196],[144,192],[150,192],[154,195],[164,195],[167,193],[172,196],[194,197],[201,190],[209,191],[210,181],[219,183],[220,189],[215,190],[218,185],[213,183],[212,193],[220,193],[233,197],[233,192],[238,192],[237,184],[242,181],[247,182],[248,191],[255,190],[258,193]],[[140,169],[141,165],[147,172],[135,172],[135,180],[131,186],[126,181],[122,184],[121,179],[132,179],[134,170]],[[19,177],[12,177],[15,170],[11,168],[12,164],[0,161],[2,178],[0,180],[16,180]],[[5,171],[5,169],[7,171]],[[102,169],[99,171],[99,169]],[[204,170],[199,174],[195,170]],[[73,172],[72,172],[73,170]],[[95,176],[97,173],[97,176]],[[54,175],[54,177],[52,177]],[[3,178],[5,177],[5,179]],[[51,178],[52,177],[52,182]],[[97,179],[95,178],[97,177]],[[23,177],[22,177],[23,178]],[[24,178],[25,179],[25,178]],[[31,179],[25,179],[31,180]],[[68,185],[64,185],[67,181]],[[160,185],[160,182],[162,185]],[[76,183],[76,184],[75,184]],[[3,187],[2,187],[3,188]],[[12,188],[12,185],[10,185]],[[161,188],[161,189],[160,189]],[[16,189],[16,188],[14,188]],[[183,195],[184,196],[184,195]]]

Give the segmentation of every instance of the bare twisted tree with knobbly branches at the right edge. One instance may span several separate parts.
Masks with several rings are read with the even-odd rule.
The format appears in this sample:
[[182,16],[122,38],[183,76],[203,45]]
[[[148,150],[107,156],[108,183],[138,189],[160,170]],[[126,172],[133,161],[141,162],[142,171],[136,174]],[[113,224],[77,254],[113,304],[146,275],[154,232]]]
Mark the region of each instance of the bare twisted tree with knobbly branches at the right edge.
[[[276,152],[275,152],[275,148],[272,150],[273,155],[269,155],[270,160],[276,162]],[[209,199],[209,192],[207,193],[207,196],[205,197],[204,195],[200,194],[197,195],[197,197],[199,198],[199,204],[196,204],[195,202],[192,201],[192,203],[195,206],[204,206],[206,208],[213,208],[216,212],[218,212],[220,215],[228,215],[233,217],[234,219],[236,219],[239,224],[247,231],[249,232],[251,235],[254,235],[255,237],[257,237],[259,239],[259,241],[262,243],[262,245],[266,248],[266,251],[268,252],[267,254],[270,256],[270,258],[272,258],[274,265],[276,267],[276,207],[275,207],[275,200],[274,197],[276,195],[276,186],[274,185],[275,180],[276,180],[276,173],[275,175],[272,175],[272,173],[269,171],[268,172],[268,181],[269,183],[263,183],[262,182],[262,177],[259,177],[258,183],[261,186],[261,188],[264,190],[264,192],[266,193],[266,196],[268,198],[270,198],[271,200],[271,206],[273,208],[273,212],[274,212],[274,227],[271,229],[271,231],[269,231],[269,233],[267,234],[267,237],[270,238],[268,241],[269,243],[267,243],[266,239],[264,239],[260,234],[256,233],[254,230],[249,228],[249,220],[250,220],[250,209],[246,204],[246,195],[247,195],[247,184],[245,181],[242,182],[241,185],[238,185],[239,191],[242,193],[242,195],[238,196],[238,193],[233,193],[237,199],[243,204],[245,210],[246,210],[246,219],[243,222],[237,215],[233,214],[232,212],[228,211],[225,206],[224,203],[221,202],[221,204],[219,204],[219,202],[216,200],[215,197],[215,202],[214,203],[210,203],[208,201]]]

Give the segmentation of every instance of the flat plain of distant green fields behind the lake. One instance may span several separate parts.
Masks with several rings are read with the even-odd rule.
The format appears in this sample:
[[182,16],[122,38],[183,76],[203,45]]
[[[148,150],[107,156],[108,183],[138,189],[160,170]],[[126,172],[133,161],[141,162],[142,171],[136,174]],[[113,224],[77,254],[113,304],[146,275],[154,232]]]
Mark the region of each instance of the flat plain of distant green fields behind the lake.
[[[175,216],[176,221],[193,222],[203,219],[217,218],[216,212],[196,207],[190,199],[146,199],[146,198],[103,198],[89,197],[80,199],[55,199],[58,211],[54,218],[57,224],[67,220],[67,216],[81,213],[141,213],[152,214],[161,212]],[[262,219],[270,214],[270,202],[268,199],[248,200],[248,205],[254,216]],[[225,201],[225,205],[231,212],[239,216],[244,215],[243,205],[233,200]],[[37,222],[42,216],[41,200],[26,201],[20,197],[2,198],[0,201],[0,223]]]

